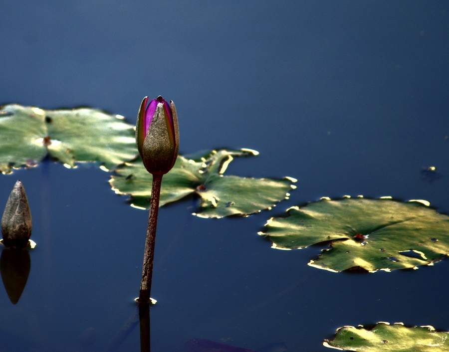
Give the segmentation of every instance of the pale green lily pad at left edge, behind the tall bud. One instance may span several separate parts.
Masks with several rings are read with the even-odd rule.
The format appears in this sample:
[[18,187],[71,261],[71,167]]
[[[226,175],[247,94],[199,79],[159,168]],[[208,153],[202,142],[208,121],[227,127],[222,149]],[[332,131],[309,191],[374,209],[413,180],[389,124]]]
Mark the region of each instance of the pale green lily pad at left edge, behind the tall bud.
[[0,110],[0,172],[37,165],[46,155],[68,168],[96,162],[111,170],[137,154],[123,117],[90,108],[43,110],[16,104]]

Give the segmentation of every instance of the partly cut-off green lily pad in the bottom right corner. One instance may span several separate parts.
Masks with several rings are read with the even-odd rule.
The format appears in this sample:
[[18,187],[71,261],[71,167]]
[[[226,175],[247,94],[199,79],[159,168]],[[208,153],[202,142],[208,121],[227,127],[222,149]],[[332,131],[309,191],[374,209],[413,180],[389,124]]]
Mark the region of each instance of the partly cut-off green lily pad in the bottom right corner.
[[361,325],[340,328],[323,345],[354,352],[443,352],[449,351],[448,337],[448,332],[438,332],[431,326],[407,328],[402,323],[379,322],[372,329]]

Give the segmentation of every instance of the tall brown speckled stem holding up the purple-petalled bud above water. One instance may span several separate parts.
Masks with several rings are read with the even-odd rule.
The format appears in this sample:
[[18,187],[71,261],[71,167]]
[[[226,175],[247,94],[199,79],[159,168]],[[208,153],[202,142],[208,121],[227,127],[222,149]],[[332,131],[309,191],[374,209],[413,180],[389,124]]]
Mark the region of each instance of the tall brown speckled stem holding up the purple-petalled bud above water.
[[154,244],[158,223],[159,196],[163,175],[153,175],[151,188],[150,214],[148,216],[147,238],[145,241],[144,262],[142,267],[142,283],[140,285],[139,304],[150,304],[151,279],[153,277]]

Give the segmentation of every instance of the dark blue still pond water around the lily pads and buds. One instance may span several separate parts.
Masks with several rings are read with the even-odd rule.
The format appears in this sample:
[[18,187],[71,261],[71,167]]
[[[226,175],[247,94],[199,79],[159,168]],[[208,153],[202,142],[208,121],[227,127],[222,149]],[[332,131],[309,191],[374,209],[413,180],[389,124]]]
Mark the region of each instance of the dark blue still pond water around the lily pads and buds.
[[[154,352],[193,338],[330,351],[321,343],[338,327],[378,321],[449,329],[448,261],[335,274],[306,265],[319,248],[274,250],[257,235],[322,196],[426,199],[449,213],[447,1],[3,0],[0,10],[0,104],[92,106],[135,123],[141,99],[160,94],[176,102],[182,153],[255,149],[228,174],[298,178],[289,200],[248,218],[194,217],[192,201],[161,209]],[[421,180],[430,166],[444,177]],[[108,177],[50,163],[0,177],[0,202],[23,181],[38,244],[18,304],[0,289],[3,351],[102,351],[132,317],[147,212]],[[135,329],[117,351],[138,350]]]

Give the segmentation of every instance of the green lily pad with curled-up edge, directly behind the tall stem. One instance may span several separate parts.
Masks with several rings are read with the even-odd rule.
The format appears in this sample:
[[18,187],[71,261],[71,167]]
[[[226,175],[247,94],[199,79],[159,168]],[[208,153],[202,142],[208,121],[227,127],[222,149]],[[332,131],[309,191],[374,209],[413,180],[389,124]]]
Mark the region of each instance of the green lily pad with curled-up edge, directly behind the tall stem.
[[[197,153],[195,159],[179,156],[173,169],[162,178],[160,205],[180,200],[188,195],[200,197],[200,209],[195,215],[223,217],[249,215],[268,209],[288,197],[296,180],[225,176],[234,157],[257,155],[251,150],[219,150]],[[137,159],[116,170],[110,179],[114,191],[131,195],[130,203],[148,209],[153,176]]]

